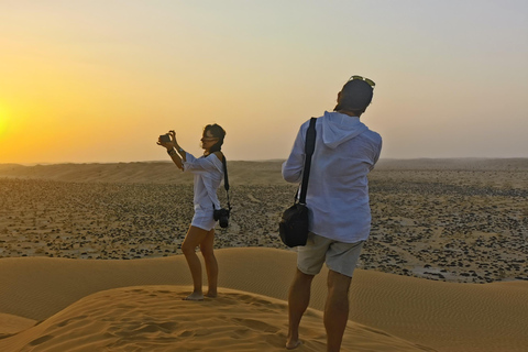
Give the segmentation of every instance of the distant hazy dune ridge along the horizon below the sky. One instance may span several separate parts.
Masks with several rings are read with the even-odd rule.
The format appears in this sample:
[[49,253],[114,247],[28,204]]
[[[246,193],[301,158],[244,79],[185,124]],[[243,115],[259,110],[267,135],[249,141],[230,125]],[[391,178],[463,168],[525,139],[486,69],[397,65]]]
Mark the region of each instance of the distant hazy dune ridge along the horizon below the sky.
[[[233,184],[282,185],[284,161],[229,161]],[[528,158],[382,158],[375,172],[455,170],[526,173]],[[173,175],[173,176],[170,176]],[[177,177],[175,176],[177,175]],[[88,183],[191,184],[193,176],[183,174],[170,162],[133,163],[65,163],[65,164],[0,164],[0,177],[40,178]]]

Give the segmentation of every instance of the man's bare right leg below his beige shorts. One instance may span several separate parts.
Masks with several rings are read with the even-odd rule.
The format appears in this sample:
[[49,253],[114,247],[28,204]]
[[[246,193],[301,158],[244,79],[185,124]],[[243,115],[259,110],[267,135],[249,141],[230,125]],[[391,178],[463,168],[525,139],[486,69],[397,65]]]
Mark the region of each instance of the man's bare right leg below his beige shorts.
[[349,320],[349,289],[352,277],[328,272],[328,297],[324,306],[324,328],[327,329],[327,351],[339,351],[344,329]]

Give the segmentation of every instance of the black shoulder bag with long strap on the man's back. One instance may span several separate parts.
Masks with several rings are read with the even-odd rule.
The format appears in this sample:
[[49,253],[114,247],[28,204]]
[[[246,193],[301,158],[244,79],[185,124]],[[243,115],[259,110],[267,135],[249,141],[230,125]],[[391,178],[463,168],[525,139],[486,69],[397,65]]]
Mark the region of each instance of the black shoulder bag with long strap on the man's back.
[[300,195],[292,207],[283,213],[283,219],[278,223],[278,233],[284,244],[289,248],[305,245],[308,239],[308,208],[306,207],[306,191],[308,189],[308,178],[310,177],[311,155],[316,147],[316,118],[310,119],[310,127],[306,131],[305,145],[305,167],[302,168],[302,183]]

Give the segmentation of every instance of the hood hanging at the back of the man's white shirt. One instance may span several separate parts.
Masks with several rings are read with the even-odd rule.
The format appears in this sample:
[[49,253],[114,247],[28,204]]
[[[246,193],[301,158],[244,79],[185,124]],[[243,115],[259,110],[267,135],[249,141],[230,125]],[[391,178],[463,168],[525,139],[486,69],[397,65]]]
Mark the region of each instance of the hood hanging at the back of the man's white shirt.
[[324,111],[321,122],[322,142],[332,150],[367,130],[360,118],[339,112]]

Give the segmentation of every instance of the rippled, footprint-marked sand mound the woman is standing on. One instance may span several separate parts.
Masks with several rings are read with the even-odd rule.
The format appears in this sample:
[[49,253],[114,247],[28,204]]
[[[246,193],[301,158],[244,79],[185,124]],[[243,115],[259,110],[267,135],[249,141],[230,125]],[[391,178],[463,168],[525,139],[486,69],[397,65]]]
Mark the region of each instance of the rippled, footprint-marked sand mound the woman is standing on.
[[[41,324],[0,340],[24,351],[284,351],[286,304],[221,289],[218,299],[182,300],[190,287],[132,286],[80,299]],[[299,351],[321,351],[321,314],[310,309]],[[350,323],[343,351],[427,351]]]

